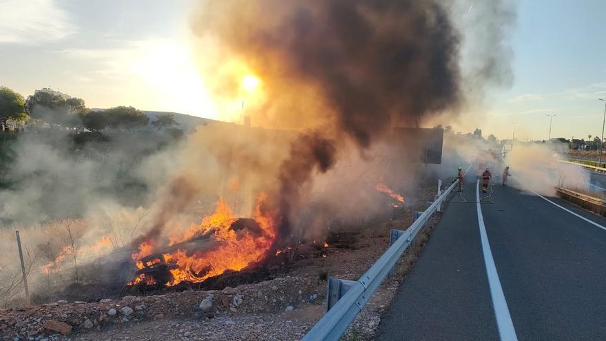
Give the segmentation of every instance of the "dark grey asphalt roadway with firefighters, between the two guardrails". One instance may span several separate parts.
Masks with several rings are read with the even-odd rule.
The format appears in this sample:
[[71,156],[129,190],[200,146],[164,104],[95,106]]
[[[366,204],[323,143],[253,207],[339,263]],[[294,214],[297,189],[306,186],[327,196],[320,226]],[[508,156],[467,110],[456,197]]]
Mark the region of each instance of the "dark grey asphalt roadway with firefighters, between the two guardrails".
[[[492,188],[481,213],[503,302],[489,285],[476,187],[468,184],[468,203],[458,193],[450,198],[377,340],[505,340],[495,313],[497,307],[504,316],[503,304],[518,340],[606,339],[606,231],[534,193]],[[599,216],[548,199],[606,226]]]

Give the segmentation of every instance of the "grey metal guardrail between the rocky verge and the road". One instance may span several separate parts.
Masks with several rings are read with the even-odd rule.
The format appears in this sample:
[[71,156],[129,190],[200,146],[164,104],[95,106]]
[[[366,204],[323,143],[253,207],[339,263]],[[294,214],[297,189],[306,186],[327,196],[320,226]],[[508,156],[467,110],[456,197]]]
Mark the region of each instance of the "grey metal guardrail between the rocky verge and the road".
[[302,341],[339,340],[364,304],[370,300],[379,285],[395,267],[398,258],[406,251],[421,228],[439,205],[457,186],[455,180],[405,231],[392,230],[390,247],[383,256],[357,281],[330,278],[328,280],[328,311],[307,333]]

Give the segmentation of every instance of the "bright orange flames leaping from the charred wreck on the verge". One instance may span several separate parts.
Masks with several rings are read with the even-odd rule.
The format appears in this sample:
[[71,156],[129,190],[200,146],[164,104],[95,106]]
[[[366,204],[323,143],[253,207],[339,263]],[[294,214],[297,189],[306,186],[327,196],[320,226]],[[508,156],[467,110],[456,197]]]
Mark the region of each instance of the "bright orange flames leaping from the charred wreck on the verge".
[[[264,202],[265,196],[259,196],[253,217],[261,229],[258,234],[248,231],[233,231],[231,224],[237,218],[233,216],[227,203],[220,199],[216,211],[203,218],[200,225],[191,226],[182,236],[173,236],[171,245],[191,240],[200,234],[211,233],[211,240],[218,242],[218,247],[211,250],[194,251],[191,254],[183,249],[163,254],[167,263],[176,265],[176,269],[169,270],[174,279],[166,285],[171,287],[182,281],[202,282],[225,271],[240,271],[252,263],[262,260],[275,239],[275,223],[271,214],[262,210]],[[141,250],[142,247],[139,249]],[[136,256],[138,254],[133,255],[133,258],[140,260]],[[143,264],[139,263],[137,266],[143,267]],[[144,282],[144,279],[136,278],[134,280],[134,283],[140,282]]]

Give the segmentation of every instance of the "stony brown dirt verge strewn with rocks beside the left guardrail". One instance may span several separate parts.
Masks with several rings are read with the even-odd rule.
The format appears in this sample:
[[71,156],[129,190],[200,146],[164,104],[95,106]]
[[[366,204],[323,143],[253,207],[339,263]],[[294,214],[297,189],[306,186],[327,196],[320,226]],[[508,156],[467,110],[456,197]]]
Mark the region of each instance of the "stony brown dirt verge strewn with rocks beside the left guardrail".
[[[438,219],[421,231],[396,276],[375,293],[345,340],[373,338],[382,312]],[[0,340],[300,340],[325,312],[326,278],[357,280],[387,249],[390,229],[406,229],[411,222],[409,209],[396,219],[334,233],[325,257],[296,260],[280,278],[252,285],[0,311]]]

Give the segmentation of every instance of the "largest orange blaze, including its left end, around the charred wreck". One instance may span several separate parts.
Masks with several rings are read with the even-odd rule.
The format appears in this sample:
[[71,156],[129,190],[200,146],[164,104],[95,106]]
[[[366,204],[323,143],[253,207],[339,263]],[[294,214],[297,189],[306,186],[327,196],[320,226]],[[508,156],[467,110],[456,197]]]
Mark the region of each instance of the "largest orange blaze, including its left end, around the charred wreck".
[[[259,196],[253,214],[258,229],[255,226],[255,228],[244,227],[236,230],[234,224],[239,219],[233,215],[227,203],[220,199],[216,211],[202,218],[202,223],[192,225],[182,234],[169,236],[168,245],[165,246],[156,247],[154,240],[144,240],[132,258],[136,260],[138,269],[144,269],[147,266],[144,265],[143,258],[150,256],[154,251],[161,253],[162,262],[174,265],[168,267],[170,275],[163,283],[167,287],[184,281],[203,282],[207,278],[220,276],[225,271],[241,271],[251,265],[257,265],[269,255],[276,235],[273,216],[262,209],[265,200],[264,195]],[[204,242],[194,245],[184,244],[205,236],[208,236],[208,240]],[[217,246],[208,248],[207,243]],[[178,248],[165,253],[163,248],[166,247]],[[152,262],[151,266],[153,265],[156,264]],[[131,284],[149,285],[155,284],[158,280],[160,278],[154,278],[154,275],[150,278],[149,274],[141,273]]]

